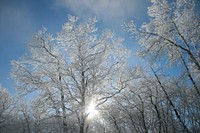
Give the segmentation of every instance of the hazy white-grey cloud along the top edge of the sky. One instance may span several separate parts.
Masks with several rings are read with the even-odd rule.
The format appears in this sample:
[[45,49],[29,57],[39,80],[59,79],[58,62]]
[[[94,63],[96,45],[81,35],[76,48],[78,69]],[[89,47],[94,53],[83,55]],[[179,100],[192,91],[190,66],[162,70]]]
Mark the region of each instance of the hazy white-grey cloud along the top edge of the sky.
[[144,14],[148,0],[55,0],[57,7],[70,9],[80,17],[96,16],[104,21],[123,20]]

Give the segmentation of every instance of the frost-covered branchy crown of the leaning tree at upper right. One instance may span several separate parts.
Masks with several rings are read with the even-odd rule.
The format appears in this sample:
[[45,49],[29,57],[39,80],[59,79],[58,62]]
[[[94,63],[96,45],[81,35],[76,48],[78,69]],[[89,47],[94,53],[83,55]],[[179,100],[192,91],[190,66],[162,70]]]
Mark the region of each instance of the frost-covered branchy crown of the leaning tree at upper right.
[[[154,62],[167,57],[171,64],[182,64],[186,76],[200,96],[200,14],[196,0],[152,0],[149,22],[137,28],[134,21],[125,24],[127,31],[139,40],[138,55]],[[181,63],[180,63],[181,62]]]

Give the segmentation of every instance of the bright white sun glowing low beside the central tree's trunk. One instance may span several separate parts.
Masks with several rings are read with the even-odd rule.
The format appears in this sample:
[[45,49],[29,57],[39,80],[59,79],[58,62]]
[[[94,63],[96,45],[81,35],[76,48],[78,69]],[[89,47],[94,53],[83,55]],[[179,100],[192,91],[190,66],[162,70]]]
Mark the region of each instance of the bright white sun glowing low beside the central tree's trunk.
[[99,111],[96,109],[96,104],[94,102],[91,102],[87,109],[86,109],[86,113],[88,115],[88,119],[92,119],[95,118],[99,115]]

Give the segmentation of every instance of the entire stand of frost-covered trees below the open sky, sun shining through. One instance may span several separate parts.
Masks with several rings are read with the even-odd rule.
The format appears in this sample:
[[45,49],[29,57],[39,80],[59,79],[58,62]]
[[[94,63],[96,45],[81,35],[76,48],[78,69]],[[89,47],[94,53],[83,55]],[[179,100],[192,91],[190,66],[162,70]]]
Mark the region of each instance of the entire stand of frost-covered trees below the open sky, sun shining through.
[[96,18],[69,15],[56,36],[35,33],[12,61],[17,96],[0,86],[0,132],[200,132],[198,1],[151,2],[148,22],[122,26],[143,66],[130,66],[132,51]]

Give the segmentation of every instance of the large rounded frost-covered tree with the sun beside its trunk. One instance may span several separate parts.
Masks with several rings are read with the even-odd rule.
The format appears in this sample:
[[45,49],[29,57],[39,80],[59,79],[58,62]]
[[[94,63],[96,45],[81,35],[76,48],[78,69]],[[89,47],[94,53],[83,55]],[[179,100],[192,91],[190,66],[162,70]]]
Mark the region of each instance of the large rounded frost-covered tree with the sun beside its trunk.
[[85,132],[90,104],[97,110],[125,88],[129,51],[111,31],[97,34],[96,22],[69,16],[56,37],[42,28],[29,44],[29,52],[12,62],[19,93],[35,91],[40,107],[43,104],[62,121],[62,132],[69,130],[68,120]]

